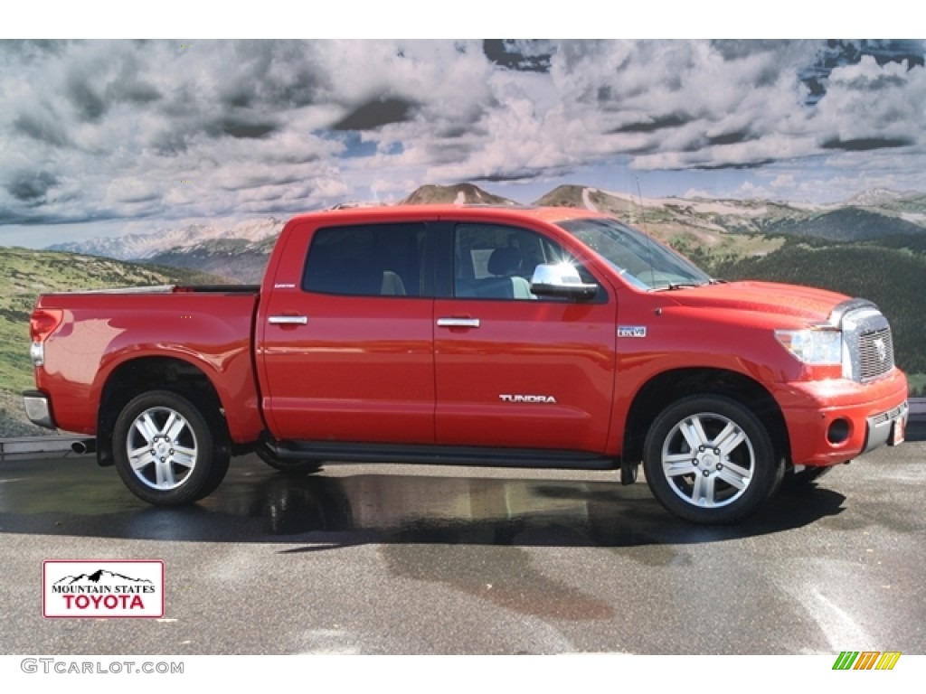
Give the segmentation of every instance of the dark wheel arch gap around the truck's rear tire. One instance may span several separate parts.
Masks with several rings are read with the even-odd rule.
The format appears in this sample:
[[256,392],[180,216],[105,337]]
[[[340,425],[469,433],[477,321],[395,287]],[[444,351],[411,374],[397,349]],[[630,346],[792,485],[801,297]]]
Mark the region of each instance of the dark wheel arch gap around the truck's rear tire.
[[99,465],[113,465],[112,436],[119,413],[132,398],[148,390],[170,390],[189,400],[206,417],[216,446],[231,448],[219,391],[206,372],[177,357],[144,356],[123,362],[106,378],[96,415]]

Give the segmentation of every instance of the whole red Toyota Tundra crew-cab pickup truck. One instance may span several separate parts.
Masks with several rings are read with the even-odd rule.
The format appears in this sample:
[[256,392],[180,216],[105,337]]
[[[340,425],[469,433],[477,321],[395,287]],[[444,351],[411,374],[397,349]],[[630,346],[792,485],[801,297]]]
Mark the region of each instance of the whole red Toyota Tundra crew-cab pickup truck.
[[722,523],[785,475],[904,438],[870,302],[709,278],[617,219],[465,205],[307,214],[260,287],[47,294],[32,421],[88,437],[146,502],[232,455],[619,469]]

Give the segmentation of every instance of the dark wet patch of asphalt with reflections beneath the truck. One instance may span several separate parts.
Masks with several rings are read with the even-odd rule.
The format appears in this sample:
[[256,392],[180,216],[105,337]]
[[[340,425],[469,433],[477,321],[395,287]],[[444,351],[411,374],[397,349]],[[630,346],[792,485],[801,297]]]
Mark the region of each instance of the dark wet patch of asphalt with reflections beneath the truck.
[[[591,480],[583,477],[593,477]],[[675,519],[643,481],[617,473],[543,473],[406,465],[328,465],[289,477],[255,457],[232,462],[198,504],[156,508],[89,456],[0,467],[0,533],[126,539],[286,542],[284,551],[368,543],[601,546],[710,542],[801,527],[839,514],[845,498],[810,487],[781,494],[735,527]]]

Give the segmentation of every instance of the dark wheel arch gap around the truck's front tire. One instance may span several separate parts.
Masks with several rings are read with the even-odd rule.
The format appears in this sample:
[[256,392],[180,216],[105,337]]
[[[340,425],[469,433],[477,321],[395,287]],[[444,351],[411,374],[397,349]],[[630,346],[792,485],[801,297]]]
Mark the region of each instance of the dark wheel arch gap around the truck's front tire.
[[671,403],[689,395],[722,395],[743,404],[768,430],[776,457],[791,459],[784,415],[769,390],[745,374],[715,367],[671,369],[650,378],[628,410],[621,458],[629,463],[642,460],[646,432],[653,420]]

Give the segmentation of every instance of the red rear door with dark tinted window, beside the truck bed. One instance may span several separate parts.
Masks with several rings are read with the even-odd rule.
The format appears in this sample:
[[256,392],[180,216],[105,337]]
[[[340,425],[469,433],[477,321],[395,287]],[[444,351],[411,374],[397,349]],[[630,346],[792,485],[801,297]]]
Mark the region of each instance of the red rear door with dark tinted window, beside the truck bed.
[[[264,412],[282,440],[433,443],[423,222],[293,229],[261,310]],[[297,252],[291,249],[298,249]]]

